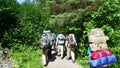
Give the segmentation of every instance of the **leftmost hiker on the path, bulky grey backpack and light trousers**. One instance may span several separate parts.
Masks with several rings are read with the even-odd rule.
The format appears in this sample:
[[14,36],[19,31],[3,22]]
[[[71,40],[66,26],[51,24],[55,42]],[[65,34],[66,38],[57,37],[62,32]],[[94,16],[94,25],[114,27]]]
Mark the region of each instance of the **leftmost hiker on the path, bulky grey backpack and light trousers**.
[[47,63],[48,63],[48,51],[49,51],[49,47],[50,47],[49,40],[47,39],[46,36],[43,36],[40,39],[40,49],[42,49],[42,52],[43,52],[42,59],[43,59],[44,66],[46,66]]

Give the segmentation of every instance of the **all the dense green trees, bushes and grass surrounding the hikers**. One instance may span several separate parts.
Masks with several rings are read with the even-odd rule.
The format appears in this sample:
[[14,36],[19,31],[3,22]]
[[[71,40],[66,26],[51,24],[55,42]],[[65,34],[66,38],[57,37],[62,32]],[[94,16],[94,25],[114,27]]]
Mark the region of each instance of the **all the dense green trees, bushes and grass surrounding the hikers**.
[[38,41],[44,29],[75,33],[76,58],[88,68],[87,33],[92,28],[102,28],[109,36],[108,46],[118,59],[109,67],[118,68],[120,0],[0,0],[0,46],[9,48],[15,68],[43,68]]

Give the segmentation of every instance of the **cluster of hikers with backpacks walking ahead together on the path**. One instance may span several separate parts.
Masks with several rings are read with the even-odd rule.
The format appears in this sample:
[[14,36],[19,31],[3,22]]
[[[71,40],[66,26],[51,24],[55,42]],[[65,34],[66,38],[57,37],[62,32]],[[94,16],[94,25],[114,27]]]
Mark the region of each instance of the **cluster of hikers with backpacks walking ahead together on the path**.
[[66,59],[72,59],[75,63],[75,47],[77,46],[75,34],[66,34],[65,32],[60,32],[55,34],[50,30],[44,30],[42,37],[40,39],[40,49],[42,49],[42,60],[44,66],[47,66],[49,59],[52,58],[52,51],[60,56],[61,59],[65,57]]

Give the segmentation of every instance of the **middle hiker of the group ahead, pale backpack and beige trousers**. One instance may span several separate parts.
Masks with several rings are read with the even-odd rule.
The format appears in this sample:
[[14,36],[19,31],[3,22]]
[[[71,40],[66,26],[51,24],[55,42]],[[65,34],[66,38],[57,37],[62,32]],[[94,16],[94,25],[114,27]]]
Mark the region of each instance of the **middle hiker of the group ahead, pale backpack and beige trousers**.
[[[60,33],[57,35],[56,38],[56,45],[57,45],[57,55],[61,55],[61,59],[64,57],[64,47],[65,47],[65,35],[63,33]],[[59,54],[60,53],[60,54]]]

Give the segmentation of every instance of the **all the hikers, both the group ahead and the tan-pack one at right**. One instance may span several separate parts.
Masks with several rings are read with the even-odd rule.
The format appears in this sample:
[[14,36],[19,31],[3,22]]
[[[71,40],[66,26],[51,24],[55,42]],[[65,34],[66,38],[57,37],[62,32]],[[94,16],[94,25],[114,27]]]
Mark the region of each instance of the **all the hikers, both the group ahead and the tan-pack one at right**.
[[[88,33],[89,47],[87,53],[90,57],[88,61],[90,68],[108,68],[108,64],[117,61],[115,55],[108,48],[107,40],[109,38],[101,28],[92,29]],[[61,59],[65,57],[66,53],[66,59],[72,59],[72,62],[75,63],[76,46],[75,34],[73,33],[66,34],[65,32],[60,32],[55,34],[50,30],[43,31],[40,39],[40,49],[43,52],[42,59],[44,66],[52,58],[52,51],[60,56]]]

